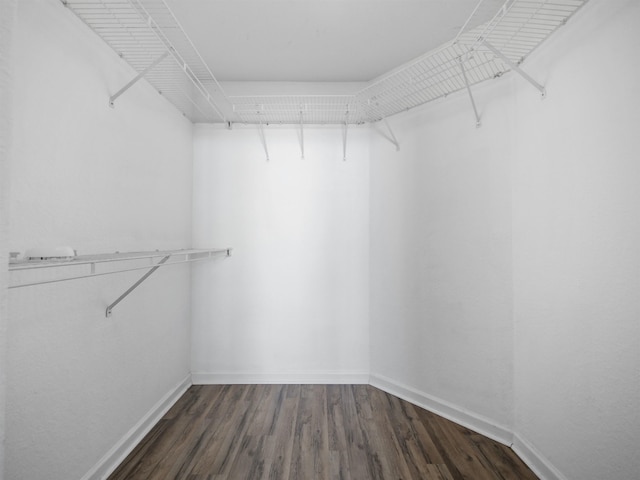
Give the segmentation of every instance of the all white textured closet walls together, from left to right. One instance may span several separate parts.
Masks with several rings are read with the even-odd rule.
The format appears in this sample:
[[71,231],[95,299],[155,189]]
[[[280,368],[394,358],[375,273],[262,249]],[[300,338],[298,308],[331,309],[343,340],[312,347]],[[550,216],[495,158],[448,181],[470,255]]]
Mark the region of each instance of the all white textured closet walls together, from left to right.
[[637,1],[591,0],[527,60],[544,101],[509,75],[474,88],[482,128],[462,92],[392,118],[400,152],[350,129],[347,162],[339,129],[305,129],[301,160],[269,127],[270,162],[256,129],[194,135],[144,82],[109,109],[121,59],[60,2],[0,2],[2,22],[14,4],[0,260],[192,235],[235,255],[161,270],[110,320],[140,274],[8,295],[1,274],[7,479],[82,477],[190,371],[371,373],[513,436],[542,478],[637,476]]

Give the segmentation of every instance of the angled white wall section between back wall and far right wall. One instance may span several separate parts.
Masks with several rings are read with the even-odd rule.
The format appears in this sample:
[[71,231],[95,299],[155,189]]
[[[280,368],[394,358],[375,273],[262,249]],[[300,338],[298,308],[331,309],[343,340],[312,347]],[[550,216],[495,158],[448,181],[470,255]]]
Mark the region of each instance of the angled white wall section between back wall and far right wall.
[[463,93],[393,118],[399,152],[380,135],[371,147],[373,382],[473,414],[466,423],[497,438],[513,405],[512,118],[501,83],[477,91],[480,129]]

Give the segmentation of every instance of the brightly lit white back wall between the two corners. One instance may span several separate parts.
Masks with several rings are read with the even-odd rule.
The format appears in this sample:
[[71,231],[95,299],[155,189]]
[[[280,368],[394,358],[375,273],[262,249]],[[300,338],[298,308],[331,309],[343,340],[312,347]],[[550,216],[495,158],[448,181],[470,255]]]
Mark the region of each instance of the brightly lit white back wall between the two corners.
[[233,247],[194,265],[195,383],[366,382],[366,129],[195,130],[193,240]]

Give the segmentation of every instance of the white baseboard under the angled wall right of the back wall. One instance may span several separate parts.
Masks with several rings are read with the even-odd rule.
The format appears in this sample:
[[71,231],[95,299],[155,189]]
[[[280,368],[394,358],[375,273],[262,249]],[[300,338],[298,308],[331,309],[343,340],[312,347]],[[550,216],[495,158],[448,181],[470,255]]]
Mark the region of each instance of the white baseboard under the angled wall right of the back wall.
[[384,390],[391,395],[402,398],[419,407],[429,410],[441,417],[455,422],[463,427],[467,427],[474,432],[478,432],[485,437],[489,437],[496,442],[511,446],[513,433],[509,428],[500,425],[490,418],[478,415],[463,407],[454,405],[440,398],[436,398],[424,392],[420,392],[412,387],[403,385],[382,375],[371,375],[369,383]]

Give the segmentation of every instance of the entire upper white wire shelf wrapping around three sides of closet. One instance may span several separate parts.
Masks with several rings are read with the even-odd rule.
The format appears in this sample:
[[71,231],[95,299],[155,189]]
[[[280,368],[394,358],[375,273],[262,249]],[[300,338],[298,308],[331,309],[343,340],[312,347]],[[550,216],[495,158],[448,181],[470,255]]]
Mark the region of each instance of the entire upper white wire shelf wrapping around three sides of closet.
[[519,65],[587,1],[507,0],[479,23],[480,0],[454,39],[351,95],[229,96],[164,0],[62,0],[192,122],[229,125],[373,123],[512,70],[526,75]]

